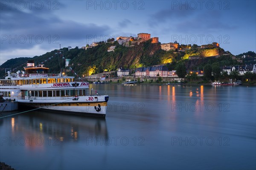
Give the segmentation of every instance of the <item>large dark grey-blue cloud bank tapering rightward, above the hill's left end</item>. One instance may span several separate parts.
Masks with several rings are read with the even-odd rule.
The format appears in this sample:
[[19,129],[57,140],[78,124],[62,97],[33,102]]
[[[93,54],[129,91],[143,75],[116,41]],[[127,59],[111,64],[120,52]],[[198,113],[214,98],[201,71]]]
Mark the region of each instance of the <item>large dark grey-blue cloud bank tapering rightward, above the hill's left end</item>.
[[56,42],[63,43],[64,41],[84,40],[86,44],[87,37],[104,36],[110,29],[109,26],[62,20],[54,14],[54,10],[49,10],[48,7],[27,10],[19,6],[16,9],[14,7],[10,9],[8,4],[1,5],[1,50],[32,48],[34,45],[48,48]]

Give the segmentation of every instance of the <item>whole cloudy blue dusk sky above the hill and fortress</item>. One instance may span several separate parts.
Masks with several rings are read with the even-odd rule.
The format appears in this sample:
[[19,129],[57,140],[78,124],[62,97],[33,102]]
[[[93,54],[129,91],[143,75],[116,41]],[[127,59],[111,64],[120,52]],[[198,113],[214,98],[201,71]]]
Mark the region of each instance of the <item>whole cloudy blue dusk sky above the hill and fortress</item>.
[[1,0],[0,64],[110,37],[148,33],[161,43],[218,42],[256,51],[255,0]]

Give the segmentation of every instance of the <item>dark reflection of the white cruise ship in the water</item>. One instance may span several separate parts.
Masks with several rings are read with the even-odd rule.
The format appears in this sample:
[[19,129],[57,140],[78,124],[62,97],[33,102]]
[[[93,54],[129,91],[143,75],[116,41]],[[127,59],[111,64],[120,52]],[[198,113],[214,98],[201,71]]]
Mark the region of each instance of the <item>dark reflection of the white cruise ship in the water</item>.
[[[33,143],[41,146],[46,144],[45,141],[48,141],[47,144],[76,142],[88,136],[108,137],[105,119],[85,116],[36,111],[4,119],[3,124],[11,127],[12,135],[15,137],[23,133],[28,146],[33,146]],[[24,141],[20,139],[20,142]]]

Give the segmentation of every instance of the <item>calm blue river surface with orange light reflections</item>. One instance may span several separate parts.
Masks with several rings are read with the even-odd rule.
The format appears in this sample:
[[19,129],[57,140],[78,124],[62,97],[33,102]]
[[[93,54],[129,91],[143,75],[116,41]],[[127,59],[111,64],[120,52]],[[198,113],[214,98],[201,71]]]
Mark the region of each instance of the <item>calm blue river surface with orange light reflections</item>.
[[105,120],[0,119],[0,161],[17,170],[256,168],[256,87],[90,87],[110,96]]

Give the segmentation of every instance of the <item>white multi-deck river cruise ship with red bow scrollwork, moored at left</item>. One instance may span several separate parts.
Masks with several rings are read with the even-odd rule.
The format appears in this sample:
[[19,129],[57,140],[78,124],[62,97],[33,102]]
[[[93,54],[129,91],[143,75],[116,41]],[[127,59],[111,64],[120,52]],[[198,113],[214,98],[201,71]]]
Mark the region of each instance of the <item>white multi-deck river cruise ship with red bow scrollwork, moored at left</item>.
[[0,94],[17,101],[19,107],[41,108],[61,113],[105,117],[108,95],[93,94],[88,82],[76,82],[74,77],[48,74],[49,68],[28,61],[25,71],[11,73],[6,69],[0,79]]

